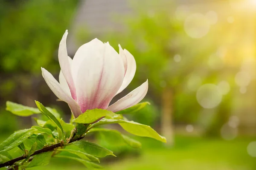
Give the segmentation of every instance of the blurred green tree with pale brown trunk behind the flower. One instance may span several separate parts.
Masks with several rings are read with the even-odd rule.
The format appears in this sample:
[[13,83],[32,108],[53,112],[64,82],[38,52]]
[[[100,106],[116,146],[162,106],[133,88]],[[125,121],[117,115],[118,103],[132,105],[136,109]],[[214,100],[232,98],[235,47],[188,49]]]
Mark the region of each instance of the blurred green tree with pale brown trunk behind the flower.
[[151,1],[147,8],[137,8],[137,17],[128,19],[128,29],[117,38],[118,43],[125,44],[123,48],[134,54],[138,65],[138,76],[134,77],[131,86],[135,87],[138,82],[149,79],[149,93],[161,105],[161,129],[169,145],[174,142],[172,122],[175,96],[183,90],[186,81],[183,77],[203,64],[199,61],[206,52],[201,51],[203,45],[200,49],[192,47],[195,45],[192,41],[199,41],[186,35],[183,20],[177,19],[175,9],[170,8],[173,6],[172,3],[159,5],[159,2],[156,5]]

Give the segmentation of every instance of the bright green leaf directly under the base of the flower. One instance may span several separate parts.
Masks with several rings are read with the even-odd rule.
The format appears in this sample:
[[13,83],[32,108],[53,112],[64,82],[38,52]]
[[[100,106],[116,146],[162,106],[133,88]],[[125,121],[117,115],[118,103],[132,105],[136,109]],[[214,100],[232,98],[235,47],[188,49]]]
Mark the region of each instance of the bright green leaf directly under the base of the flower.
[[92,109],[92,110],[87,110],[86,112],[79,115],[76,119],[73,120],[73,122],[81,123],[81,124],[92,124],[104,118],[105,116],[108,116],[111,118],[120,117],[120,115],[113,113],[112,111],[103,110],[103,109]]

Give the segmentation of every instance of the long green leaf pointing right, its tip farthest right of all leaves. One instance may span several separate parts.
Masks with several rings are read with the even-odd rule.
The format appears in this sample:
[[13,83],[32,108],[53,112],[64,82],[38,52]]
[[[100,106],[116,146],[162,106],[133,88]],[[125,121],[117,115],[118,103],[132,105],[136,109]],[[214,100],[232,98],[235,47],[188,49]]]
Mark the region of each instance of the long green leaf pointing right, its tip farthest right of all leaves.
[[116,119],[101,119],[99,122],[96,122],[91,127],[95,127],[98,125],[105,125],[105,124],[113,124],[118,123],[122,126],[124,130],[127,132],[137,135],[137,136],[143,136],[143,137],[150,137],[157,139],[161,142],[166,142],[166,138],[159,135],[154,129],[152,129],[148,125],[143,125],[134,121],[128,121],[128,120],[116,120]]

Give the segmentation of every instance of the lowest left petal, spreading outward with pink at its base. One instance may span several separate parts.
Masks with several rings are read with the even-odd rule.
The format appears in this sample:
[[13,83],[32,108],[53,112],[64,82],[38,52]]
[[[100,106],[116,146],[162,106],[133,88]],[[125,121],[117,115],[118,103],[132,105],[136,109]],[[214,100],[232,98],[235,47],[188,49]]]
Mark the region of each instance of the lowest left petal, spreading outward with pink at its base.
[[52,92],[61,100],[66,102],[74,114],[75,117],[79,116],[82,112],[80,110],[79,105],[76,103],[76,101],[66,93],[64,89],[61,88],[61,85],[58,83],[58,81],[50,74],[46,69],[42,69],[42,75],[45,79],[45,82],[49,86],[49,88],[52,90]]

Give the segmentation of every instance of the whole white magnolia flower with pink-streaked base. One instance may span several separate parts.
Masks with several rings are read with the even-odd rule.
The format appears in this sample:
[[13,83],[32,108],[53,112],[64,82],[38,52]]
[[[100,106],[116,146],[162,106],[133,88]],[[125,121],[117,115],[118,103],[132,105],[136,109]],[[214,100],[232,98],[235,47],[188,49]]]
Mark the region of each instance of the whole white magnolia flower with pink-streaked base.
[[78,117],[87,109],[106,109],[117,112],[140,102],[148,91],[148,80],[129,94],[109,105],[116,94],[131,82],[136,71],[134,57],[119,45],[119,54],[109,43],[94,39],[82,45],[73,59],[67,55],[67,31],[59,49],[61,67],[59,82],[46,69],[42,75],[52,92],[67,102]]

